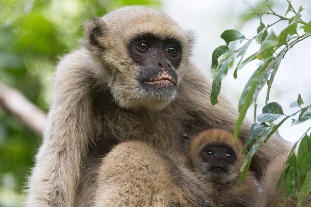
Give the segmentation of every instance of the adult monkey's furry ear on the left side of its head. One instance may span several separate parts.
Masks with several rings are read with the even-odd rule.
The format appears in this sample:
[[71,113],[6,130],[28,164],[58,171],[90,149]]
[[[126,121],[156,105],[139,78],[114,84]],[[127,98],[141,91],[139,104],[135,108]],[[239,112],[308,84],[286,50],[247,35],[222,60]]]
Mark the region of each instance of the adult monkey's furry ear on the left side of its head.
[[107,26],[103,19],[97,16],[92,16],[93,21],[87,20],[84,24],[86,44],[91,46],[101,47],[98,41],[99,37],[103,37],[107,32]]

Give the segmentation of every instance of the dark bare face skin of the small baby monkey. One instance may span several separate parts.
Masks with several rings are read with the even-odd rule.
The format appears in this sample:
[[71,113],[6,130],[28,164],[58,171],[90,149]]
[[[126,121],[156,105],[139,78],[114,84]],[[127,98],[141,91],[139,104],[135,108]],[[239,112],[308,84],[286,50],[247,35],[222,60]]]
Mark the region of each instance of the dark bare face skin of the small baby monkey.
[[209,175],[211,181],[218,182],[227,176],[237,157],[231,147],[225,144],[208,144],[199,154],[202,173]]

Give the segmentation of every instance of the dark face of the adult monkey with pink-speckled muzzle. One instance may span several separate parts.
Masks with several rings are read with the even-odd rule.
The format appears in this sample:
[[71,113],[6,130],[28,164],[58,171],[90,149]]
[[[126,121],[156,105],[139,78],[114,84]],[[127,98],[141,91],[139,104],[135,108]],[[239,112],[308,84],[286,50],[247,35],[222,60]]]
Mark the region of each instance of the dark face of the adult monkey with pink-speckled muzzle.
[[151,96],[172,96],[176,91],[182,48],[174,39],[139,35],[128,45],[133,61],[141,67],[138,81]]

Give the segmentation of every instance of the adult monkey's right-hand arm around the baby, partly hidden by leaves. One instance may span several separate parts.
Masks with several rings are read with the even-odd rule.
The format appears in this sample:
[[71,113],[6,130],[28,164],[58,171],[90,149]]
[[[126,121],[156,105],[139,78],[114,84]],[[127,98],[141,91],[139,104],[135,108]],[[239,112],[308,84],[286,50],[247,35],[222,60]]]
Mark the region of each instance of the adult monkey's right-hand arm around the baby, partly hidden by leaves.
[[[209,101],[211,83],[207,76],[198,68],[192,66],[183,81],[188,84],[181,84],[179,93],[186,94],[187,96],[180,95],[179,97],[184,105],[187,106],[188,109],[186,110],[194,113],[192,117],[196,117],[193,126],[190,127],[193,128],[194,133],[207,128],[221,128],[233,132],[239,113],[225,99],[222,93],[218,96],[219,103],[215,106],[211,105]],[[248,120],[244,120],[239,133],[239,137],[243,142],[248,135],[250,127],[251,123]],[[259,148],[253,159],[252,168],[258,174],[261,174],[270,160],[280,153],[289,150],[290,145],[288,142],[273,136]]]

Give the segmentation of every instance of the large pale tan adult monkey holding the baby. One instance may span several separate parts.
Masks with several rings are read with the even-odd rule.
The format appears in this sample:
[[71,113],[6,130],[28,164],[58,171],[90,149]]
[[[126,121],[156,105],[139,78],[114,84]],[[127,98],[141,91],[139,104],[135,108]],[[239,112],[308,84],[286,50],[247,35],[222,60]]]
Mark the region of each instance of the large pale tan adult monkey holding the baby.
[[[184,133],[191,136],[211,127],[232,131],[235,126],[238,114],[224,98],[211,106],[210,82],[189,61],[192,37],[168,15],[143,6],[124,7],[88,22],[85,33],[82,47],[57,66],[49,126],[29,180],[27,205],[31,207],[92,204],[97,173],[111,185],[111,191],[103,193],[117,196],[120,191],[112,190],[118,189],[114,182],[131,183],[132,175],[140,173],[131,169],[144,168],[136,162],[133,165],[139,166],[130,165],[121,175],[110,172],[103,178],[111,163],[127,166],[122,163],[131,161],[124,150],[132,149],[133,142],[118,145],[113,156],[107,156],[111,159],[101,164],[115,143],[137,140],[136,152],[147,143],[157,159],[172,160],[166,169],[178,170],[190,166],[188,146],[181,139]],[[249,127],[242,126],[242,141]],[[260,173],[284,148],[287,143],[270,139],[254,157],[252,169]],[[141,159],[147,159],[146,166],[155,160]],[[168,182],[186,191],[181,196],[186,203],[205,205],[195,201],[201,192],[190,174],[156,172],[164,163],[155,164],[159,165],[153,168],[155,175],[168,175]],[[123,175],[128,179],[121,179]],[[139,183],[144,184],[150,183]],[[122,194],[126,193],[132,192]]]

